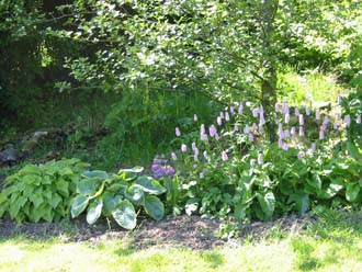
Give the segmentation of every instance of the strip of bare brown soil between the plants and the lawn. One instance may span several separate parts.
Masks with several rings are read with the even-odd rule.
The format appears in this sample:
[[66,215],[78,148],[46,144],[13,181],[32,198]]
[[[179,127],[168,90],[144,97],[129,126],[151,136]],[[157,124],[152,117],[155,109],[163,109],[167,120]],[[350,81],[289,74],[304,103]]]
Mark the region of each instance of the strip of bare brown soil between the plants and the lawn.
[[84,218],[71,223],[23,223],[21,225],[8,219],[0,219],[0,238],[5,239],[14,235],[24,235],[41,239],[65,235],[69,241],[87,240],[92,243],[108,239],[125,239],[133,248],[177,246],[192,249],[211,249],[223,245],[238,245],[246,238],[258,240],[272,234],[271,230],[280,234],[303,231],[306,223],[314,222],[315,219],[309,216],[301,217],[296,215],[268,223],[256,222],[242,227],[239,238],[227,241],[215,237],[215,233],[223,224],[222,222],[201,218],[195,215],[168,216],[160,222],[144,219],[132,231],[122,229],[115,223],[111,223],[111,227],[109,227],[105,220],[89,226]]

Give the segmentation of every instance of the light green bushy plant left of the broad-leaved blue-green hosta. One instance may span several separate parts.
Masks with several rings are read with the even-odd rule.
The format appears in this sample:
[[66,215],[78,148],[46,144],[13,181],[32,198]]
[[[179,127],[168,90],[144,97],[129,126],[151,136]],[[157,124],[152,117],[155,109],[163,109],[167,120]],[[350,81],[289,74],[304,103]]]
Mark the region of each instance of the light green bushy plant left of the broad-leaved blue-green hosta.
[[54,222],[67,217],[80,173],[88,163],[78,159],[26,165],[5,180],[0,193],[0,217],[18,222]]

